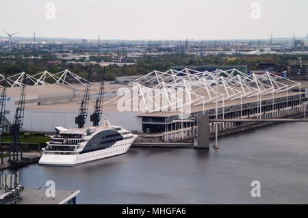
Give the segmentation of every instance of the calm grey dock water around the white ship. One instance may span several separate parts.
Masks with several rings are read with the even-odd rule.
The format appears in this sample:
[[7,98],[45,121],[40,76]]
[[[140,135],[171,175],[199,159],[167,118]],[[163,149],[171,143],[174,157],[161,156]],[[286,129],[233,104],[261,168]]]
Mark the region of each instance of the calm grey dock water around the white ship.
[[[80,189],[78,204],[307,204],[307,130],[279,124],[220,137],[220,150],[131,148],[77,167],[29,165],[21,184]],[[261,197],[251,197],[253,180]]]

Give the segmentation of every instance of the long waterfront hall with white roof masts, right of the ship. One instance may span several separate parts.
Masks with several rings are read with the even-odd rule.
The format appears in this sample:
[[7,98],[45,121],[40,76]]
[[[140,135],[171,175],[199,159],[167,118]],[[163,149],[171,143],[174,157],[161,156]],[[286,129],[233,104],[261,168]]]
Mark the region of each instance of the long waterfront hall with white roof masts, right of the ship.
[[[145,113],[138,115],[142,118],[140,137],[156,135],[164,141],[194,135],[199,114],[207,114],[210,119],[279,118],[299,113],[303,101],[307,100],[305,92],[298,92],[303,90],[300,83],[269,72],[247,75],[236,69],[214,72],[188,68],[167,72],[155,70],[133,83],[138,84],[140,102],[152,101],[157,106],[151,96],[168,99],[167,105],[146,108]],[[155,87],[163,88],[157,91]],[[172,88],[190,90],[190,94],[181,99],[172,95]],[[189,107],[188,113],[181,110],[185,107]],[[239,124],[218,125],[223,130]],[[214,131],[214,123],[210,131]]]

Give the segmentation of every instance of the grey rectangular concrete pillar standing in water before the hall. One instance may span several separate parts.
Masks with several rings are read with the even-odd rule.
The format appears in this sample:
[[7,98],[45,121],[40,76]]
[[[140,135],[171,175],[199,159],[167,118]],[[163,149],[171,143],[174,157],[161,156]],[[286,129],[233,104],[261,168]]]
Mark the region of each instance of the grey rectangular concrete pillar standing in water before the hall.
[[197,148],[209,148],[209,115],[198,115]]

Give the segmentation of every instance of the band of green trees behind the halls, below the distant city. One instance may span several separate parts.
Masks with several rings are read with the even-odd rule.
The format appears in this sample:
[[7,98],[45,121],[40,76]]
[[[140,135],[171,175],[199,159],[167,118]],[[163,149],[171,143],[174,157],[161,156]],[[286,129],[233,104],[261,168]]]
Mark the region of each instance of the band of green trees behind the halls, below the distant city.
[[[106,81],[115,80],[116,77],[141,75],[149,73],[153,70],[166,71],[171,66],[201,66],[201,65],[247,65],[249,70],[257,70],[258,63],[271,63],[281,66],[288,66],[296,62],[298,57],[303,60],[308,59],[308,55],[217,55],[217,56],[199,56],[186,54],[166,54],[166,55],[142,55],[136,57],[136,66],[107,66],[99,65],[99,62],[110,62],[111,57],[91,56],[92,62],[97,64],[87,64],[86,59],[75,59],[76,64],[67,64],[66,59],[57,59],[53,55],[43,55],[40,59],[28,59],[25,56],[16,55],[16,57],[6,57],[0,59],[0,73],[5,77],[10,77],[19,72],[27,72],[27,74],[36,74],[44,70],[55,73],[68,69],[75,72],[80,77],[84,77],[90,81]],[[58,60],[60,63],[52,61]],[[86,62],[86,64],[81,63]],[[105,75],[102,78],[102,75]]]

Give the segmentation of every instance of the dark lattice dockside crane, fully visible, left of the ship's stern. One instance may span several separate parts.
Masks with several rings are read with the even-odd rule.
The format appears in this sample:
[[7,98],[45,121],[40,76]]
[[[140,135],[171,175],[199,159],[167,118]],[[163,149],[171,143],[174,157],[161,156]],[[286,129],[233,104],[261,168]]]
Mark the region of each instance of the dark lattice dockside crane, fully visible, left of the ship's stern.
[[25,85],[21,86],[21,96],[19,97],[18,107],[16,108],[15,111],[14,121],[12,123],[12,126],[10,126],[10,134],[12,135],[12,141],[8,159],[10,163],[16,163],[18,161],[18,153],[21,154],[20,160],[23,159],[23,148],[21,146],[21,141],[19,141],[19,134],[21,133],[21,127],[23,126],[24,115],[25,115]]

